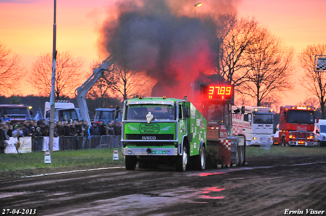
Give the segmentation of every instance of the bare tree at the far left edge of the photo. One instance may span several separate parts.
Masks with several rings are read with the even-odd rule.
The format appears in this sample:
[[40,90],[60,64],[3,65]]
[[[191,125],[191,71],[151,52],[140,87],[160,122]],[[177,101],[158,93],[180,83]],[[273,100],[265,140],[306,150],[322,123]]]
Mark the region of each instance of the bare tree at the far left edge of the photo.
[[0,91],[19,90],[22,80],[21,58],[0,42]]

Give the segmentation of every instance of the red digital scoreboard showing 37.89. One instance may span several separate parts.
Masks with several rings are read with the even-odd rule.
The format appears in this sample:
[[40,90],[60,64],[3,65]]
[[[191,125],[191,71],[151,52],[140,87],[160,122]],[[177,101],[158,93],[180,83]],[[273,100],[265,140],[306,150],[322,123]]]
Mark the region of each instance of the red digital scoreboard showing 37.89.
[[204,100],[233,100],[233,85],[202,85],[202,99]]

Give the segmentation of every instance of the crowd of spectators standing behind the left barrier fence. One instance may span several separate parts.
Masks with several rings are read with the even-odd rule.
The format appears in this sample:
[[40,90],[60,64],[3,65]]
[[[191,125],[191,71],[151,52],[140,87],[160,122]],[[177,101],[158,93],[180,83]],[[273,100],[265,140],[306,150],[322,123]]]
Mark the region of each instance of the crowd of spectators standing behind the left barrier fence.
[[[12,124],[10,118],[7,115],[1,117],[0,123],[0,150],[4,153],[4,150],[8,146],[7,140],[10,137],[46,137],[49,136],[49,126],[46,125],[45,120],[25,120],[18,121]],[[121,125],[118,122],[110,122],[105,125],[101,121],[95,121],[89,126],[87,121],[57,121],[55,122],[55,137],[64,136],[104,136],[104,135],[121,135]],[[19,147],[19,146],[18,146]],[[18,147],[16,146],[17,150]]]

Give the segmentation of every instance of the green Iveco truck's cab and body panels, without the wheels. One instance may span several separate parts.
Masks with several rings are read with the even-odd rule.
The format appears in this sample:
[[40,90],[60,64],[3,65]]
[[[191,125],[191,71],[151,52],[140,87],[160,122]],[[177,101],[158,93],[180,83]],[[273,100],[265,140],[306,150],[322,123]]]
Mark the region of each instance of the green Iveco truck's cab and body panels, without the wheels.
[[[190,110],[188,118],[184,118],[185,107]],[[170,118],[168,109],[174,110]],[[148,122],[146,116],[151,114]],[[123,111],[123,154],[176,156],[182,154],[180,146],[188,143],[189,155],[195,156],[206,143],[206,129],[206,119],[191,102],[175,98],[130,99],[125,101]]]

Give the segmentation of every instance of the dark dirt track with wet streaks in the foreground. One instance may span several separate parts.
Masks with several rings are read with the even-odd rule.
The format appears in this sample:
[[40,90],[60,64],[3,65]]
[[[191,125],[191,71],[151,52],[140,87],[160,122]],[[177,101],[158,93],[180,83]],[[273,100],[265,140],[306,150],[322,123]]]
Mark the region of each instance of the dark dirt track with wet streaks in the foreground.
[[326,210],[326,158],[251,157],[247,162],[202,172],[118,168],[3,179],[0,206],[35,208],[37,215],[284,215],[286,209],[310,215],[306,209]]

